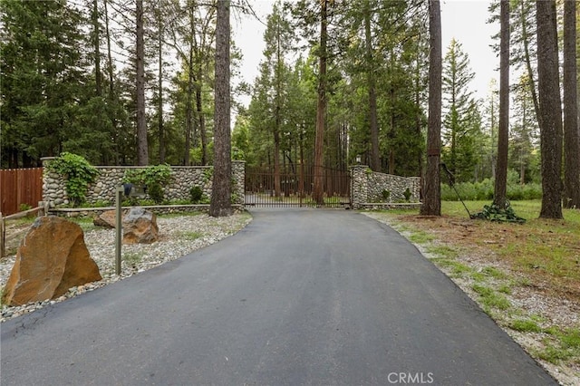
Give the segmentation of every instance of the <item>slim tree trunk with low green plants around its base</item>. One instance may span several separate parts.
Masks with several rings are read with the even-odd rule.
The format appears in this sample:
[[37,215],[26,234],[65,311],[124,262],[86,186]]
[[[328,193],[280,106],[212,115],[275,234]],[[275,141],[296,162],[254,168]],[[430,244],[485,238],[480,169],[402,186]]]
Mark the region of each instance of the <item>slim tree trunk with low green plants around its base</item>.
[[509,0],[500,3],[498,163],[493,203],[506,207],[509,138]]

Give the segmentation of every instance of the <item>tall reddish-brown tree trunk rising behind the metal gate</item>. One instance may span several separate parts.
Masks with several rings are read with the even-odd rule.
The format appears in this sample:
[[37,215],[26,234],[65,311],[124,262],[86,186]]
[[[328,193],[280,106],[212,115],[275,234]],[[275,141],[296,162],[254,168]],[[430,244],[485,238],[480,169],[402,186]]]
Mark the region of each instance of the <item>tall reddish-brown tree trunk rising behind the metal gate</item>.
[[320,21],[320,61],[318,74],[318,102],[316,106],[316,136],[314,139],[314,191],[313,199],[317,205],[324,204],[324,126],[326,118],[326,43],[328,0],[321,1]]

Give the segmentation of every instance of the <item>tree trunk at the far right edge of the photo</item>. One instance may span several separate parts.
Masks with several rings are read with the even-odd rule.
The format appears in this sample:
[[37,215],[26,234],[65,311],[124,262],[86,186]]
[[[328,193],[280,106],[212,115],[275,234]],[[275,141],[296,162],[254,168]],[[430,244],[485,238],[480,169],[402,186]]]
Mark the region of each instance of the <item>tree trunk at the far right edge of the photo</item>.
[[576,3],[564,2],[564,206],[580,208],[580,141],[576,94]]

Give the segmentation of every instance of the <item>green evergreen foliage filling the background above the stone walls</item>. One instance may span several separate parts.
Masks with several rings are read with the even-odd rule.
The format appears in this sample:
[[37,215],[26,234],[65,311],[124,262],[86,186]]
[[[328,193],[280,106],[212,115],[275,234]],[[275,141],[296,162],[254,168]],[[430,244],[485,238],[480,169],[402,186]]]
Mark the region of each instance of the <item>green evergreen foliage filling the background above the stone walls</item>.
[[[136,2],[0,2],[2,168],[38,166],[42,157],[63,152],[92,164],[134,165],[137,111],[147,112],[151,162],[213,163],[216,7],[192,0],[142,3],[147,92],[145,107],[138,108]],[[420,176],[426,164],[430,3],[326,0],[324,74],[323,3],[276,3],[266,19],[259,76],[231,92],[237,121],[227,155],[244,158],[250,168],[274,170],[277,164],[297,172],[312,165],[324,84],[324,167],[346,170],[358,156],[372,169]],[[490,6],[492,20],[498,4]],[[541,162],[536,4],[511,0],[510,7],[511,65],[523,72],[510,93],[507,198],[513,200],[541,194]],[[237,9],[248,11],[243,3]],[[469,92],[469,57],[462,36],[457,38],[444,61],[442,161],[459,191],[491,199],[497,96],[490,90],[486,109],[479,110],[482,103]],[[234,45],[229,51],[234,78],[241,53]],[[242,92],[251,97],[247,108],[239,101]],[[443,197],[448,190],[442,187]]]

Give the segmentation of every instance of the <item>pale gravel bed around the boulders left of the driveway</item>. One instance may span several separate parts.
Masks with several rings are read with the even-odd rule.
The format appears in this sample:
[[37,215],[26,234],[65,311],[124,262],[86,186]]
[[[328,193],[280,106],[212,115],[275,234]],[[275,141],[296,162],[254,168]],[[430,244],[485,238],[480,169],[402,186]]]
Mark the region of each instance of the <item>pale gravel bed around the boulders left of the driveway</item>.
[[[160,240],[153,244],[122,246],[121,275],[115,274],[115,229],[93,228],[84,232],[84,243],[95,263],[99,266],[102,280],[69,289],[57,299],[24,304],[2,306],[0,322],[15,316],[33,312],[47,304],[63,302],[73,296],[93,291],[131,275],[146,271],[154,266],[185,256],[196,249],[217,243],[235,234],[251,221],[248,213],[237,213],[230,217],[209,217],[206,214],[158,217]],[[4,287],[14,265],[16,256],[0,260],[0,287]]]

